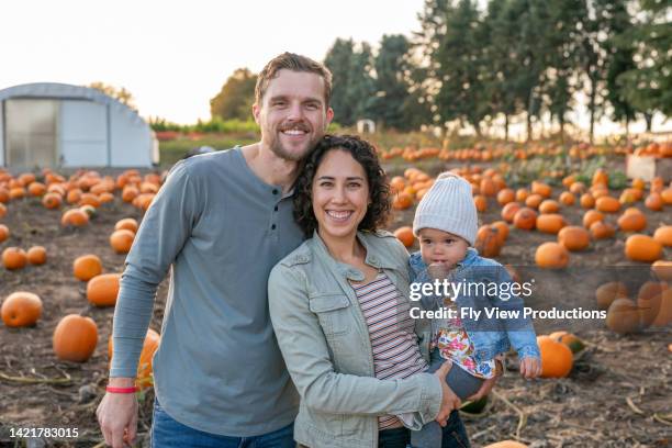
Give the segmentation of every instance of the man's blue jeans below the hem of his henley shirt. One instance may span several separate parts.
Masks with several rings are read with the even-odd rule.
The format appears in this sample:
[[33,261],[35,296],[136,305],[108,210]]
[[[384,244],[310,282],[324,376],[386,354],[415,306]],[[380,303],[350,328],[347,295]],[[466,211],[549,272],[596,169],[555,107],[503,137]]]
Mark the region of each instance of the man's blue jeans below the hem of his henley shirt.
[[154,401],[153,448],[294,448],[294,424],[254,437],[231,437],[204,433],[175,421]]

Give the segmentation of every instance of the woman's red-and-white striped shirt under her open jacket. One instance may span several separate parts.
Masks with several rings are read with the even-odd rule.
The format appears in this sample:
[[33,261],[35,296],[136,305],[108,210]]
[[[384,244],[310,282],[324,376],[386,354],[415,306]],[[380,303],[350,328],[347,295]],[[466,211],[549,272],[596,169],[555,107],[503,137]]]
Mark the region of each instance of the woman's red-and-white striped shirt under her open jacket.
[[[370,283],[354,284],[352,289],[369,328],[376,378],[402,379],[425,371],[427,363],[421,356],[413,331],[415,322],[408,314],[411,305],[388,276],[381,272]],[[380,430],[402,426],[393,415],[378,417]]]

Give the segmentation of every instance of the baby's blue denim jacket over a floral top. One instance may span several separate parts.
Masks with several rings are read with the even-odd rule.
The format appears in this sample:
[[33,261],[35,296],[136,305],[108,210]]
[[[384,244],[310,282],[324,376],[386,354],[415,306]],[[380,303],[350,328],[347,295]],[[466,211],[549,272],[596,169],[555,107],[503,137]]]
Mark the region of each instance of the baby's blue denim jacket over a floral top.
[[[414,253],[408,259],[412,283],[434,282],[427,272],[427,266],[423,261],[419,253]],[[502,285],[512,284],[513,280],[502,265],[479,256],[479,253],[469,248],[467,256],[450,272],[450,282],[483,283]],[[494,288],[494,287],[493,287]],[[497,287],[499,288],[499,287]],[[502,294],[485,293],[466,294],[460,293],[453,300],[457,309],[472,309],[480,311],[480,317],[473,318],[469,313],[461,315],[462,325],[474,347],[474,359],[478,362],[493,359],[495,356],[508,351],[513,348],[518,354],[518,358],[540,358],[539,347],[535,328],[529,317],[523,315],[523,299],[516,294],[509,294],[507,300],[502,299]],[[425,310],[436,310],[443,303],[444,296],[425,295],[422,298],[422,305]],[[485,309],[499,309],[503,312],[517,311],[516,318],[488,318]],[[427,338],[430,340],[430,338]]]

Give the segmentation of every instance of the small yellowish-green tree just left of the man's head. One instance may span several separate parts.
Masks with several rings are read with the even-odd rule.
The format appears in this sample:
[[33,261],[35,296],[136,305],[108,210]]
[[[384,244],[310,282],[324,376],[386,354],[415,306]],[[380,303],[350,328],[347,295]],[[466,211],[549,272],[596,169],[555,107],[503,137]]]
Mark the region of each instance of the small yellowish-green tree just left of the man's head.
[[210,100],[210,114],[222,120],[249,120],[255,102],[257,75],[247,68],[238,68],[226,79],[222,90]]

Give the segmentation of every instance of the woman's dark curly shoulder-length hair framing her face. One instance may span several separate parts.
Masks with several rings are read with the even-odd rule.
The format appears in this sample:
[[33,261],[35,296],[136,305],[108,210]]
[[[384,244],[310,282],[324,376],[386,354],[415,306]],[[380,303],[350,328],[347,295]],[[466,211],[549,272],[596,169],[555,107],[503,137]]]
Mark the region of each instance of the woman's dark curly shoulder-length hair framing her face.
[[317,220],[313,212],[312,187],[315,172],[325,154],[329,150],[344,150],[363,167],[369,183],[371,201],[367,213],[357,226],[359,231],[377,231],[385,225],[390,216],[390,183],[388,176],[380,166],[380,160],[373,146],[356,135],[325,135],[309,154],[294,189],[294,220],[307,238],[317,228]]

